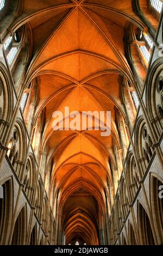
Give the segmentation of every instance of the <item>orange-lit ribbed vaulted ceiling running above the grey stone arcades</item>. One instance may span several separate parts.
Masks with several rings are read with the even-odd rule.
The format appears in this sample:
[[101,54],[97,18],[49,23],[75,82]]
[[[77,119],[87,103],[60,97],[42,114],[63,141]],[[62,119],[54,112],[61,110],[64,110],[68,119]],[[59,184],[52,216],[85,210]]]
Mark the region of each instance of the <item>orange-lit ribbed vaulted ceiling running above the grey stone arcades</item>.
[[[134,81],[124,53],[124,29],[127,22],[142,29],[145,25],[129,0],[23,2],[22,15],[13,28],[27,23],[31,31],[33,58],[26,82],[37,77],[40,84],[35,113],[36,120],[45,109],[40,149],[48,143],[49,162],[53,160],[52,182],[56,193],[59,190],[67,236],[71,240],[83,232],[88,243],[95,242],[97,235],[91,233],[90,227],[97,227],[96,202],[105,209],[108,181],[112,186],[112,143],[120,145],[115,125],[115,106],[124,115],[120,76],[130,83]],[[147,8],[146,13],[150,16]],[[64,112],[65,106],[79,112],[111,111],[111,135],[102,137],[101,131],[95,130],[54,131],[52,114]],[[81,199],[79,190],[84,190],[84,195],[87,191],[87,202]]]

